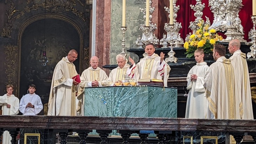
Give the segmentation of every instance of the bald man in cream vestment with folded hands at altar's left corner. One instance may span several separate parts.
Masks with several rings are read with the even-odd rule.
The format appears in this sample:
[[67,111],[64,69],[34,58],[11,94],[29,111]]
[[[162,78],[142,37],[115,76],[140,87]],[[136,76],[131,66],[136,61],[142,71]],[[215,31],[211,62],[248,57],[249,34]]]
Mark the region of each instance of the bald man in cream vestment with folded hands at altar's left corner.
[[98,67],[99,58],[97,56],[92,56],[90,59],[90,65],[88,69],[84,70],[81,74],[81,83],[78,87],[78,97],[79,102],[77,103],[77,109],[79,115],[83,115],[83,103],[84,103],[84,91],[85,87],[101,87],[106,86],[106,81],[108,76],[104,70]]

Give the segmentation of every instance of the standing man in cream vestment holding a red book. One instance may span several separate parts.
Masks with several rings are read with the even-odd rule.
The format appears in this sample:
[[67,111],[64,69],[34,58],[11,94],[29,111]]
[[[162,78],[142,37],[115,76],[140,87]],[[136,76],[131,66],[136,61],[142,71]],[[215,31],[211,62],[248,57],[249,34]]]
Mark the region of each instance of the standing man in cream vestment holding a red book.
[[59,61],[53,72],[48,116],[76,116],[76,92],[79,83],[72,79],[78,75],[73,62],[78,58],[75,49]]

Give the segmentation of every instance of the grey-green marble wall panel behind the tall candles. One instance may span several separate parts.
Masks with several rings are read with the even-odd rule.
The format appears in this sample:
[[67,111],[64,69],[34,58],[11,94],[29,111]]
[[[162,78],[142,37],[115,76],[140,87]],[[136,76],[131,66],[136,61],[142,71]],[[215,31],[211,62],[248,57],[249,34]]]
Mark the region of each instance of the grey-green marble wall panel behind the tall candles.
[[[140,12],[140,8],[146,7],[144,1],[146,0],[126,0],[126,50],[137,47],[135,41],[137,36],[141,35],[139,25],[145,22],[143,13]],[[115,57],[122,52],[122,0],[112,0],[111,4],[110,64],[116,64]],[[137,55],[129,52],[127,59],[129,55],[135,61],[139,60]]]

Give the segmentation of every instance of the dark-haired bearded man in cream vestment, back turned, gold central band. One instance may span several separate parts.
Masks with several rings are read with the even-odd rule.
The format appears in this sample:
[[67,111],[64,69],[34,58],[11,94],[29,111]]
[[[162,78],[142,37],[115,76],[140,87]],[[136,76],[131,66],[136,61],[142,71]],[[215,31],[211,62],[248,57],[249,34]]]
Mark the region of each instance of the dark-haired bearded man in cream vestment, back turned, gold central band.
[[234,69],[229,59],[224,57],[226,48],[215,44],[213,57],[216,62],[210,65],[204,76],[206,88],[206,118],[241,119],[243,107],[235,89]]

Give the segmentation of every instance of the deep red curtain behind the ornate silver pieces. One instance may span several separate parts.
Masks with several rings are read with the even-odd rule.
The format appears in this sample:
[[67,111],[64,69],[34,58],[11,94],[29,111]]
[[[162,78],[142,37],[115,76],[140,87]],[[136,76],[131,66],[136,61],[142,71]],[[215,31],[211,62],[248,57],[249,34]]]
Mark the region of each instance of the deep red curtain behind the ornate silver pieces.
[[[202,18],[206,20],[205,16],[207,16],[210,19],[210,22],[212,23],[214,20],[213,13],[210,11],[209,0],[202,0],[202,3],[205,4],[205,8],[203,9],[203,16]],[[177,0],[176,5],[180,6],[180,10],[177,13],[177,22],[181,22],[182,29],[180,30],[181,37],[185,41],[185,37],[189,32],[191,32],[191,29],[188,28],[190,21],[195,21],[194,11],[190,8],[190,5],[195,5],[196,0]],[[252,15],[252,0],[242,0],[243,7],[241,8],[241,11],[239,13],[239,17],[242,22],[242,26],[244,28],[244,39],[248,40],[248,32],[252,28],[253,24],[251,21],[251,15]],[[224,38],[224,34],[220,34]]]

